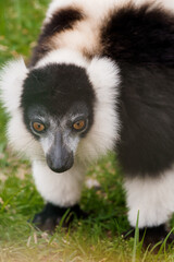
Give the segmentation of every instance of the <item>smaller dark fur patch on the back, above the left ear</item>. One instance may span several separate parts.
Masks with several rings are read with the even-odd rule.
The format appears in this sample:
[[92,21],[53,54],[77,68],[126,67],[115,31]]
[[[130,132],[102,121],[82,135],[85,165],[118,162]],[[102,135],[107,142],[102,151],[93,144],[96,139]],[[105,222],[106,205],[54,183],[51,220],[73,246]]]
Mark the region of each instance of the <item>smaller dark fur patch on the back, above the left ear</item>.
[[72,29],[76,22],[83,20],[84,15],[77,9],[66,8],[54,12],[50,22],[44,26],[39,36],[38,45],[34,49],[30,67],[34,67],[37,61],[51,50],[49,38],[65,29]]

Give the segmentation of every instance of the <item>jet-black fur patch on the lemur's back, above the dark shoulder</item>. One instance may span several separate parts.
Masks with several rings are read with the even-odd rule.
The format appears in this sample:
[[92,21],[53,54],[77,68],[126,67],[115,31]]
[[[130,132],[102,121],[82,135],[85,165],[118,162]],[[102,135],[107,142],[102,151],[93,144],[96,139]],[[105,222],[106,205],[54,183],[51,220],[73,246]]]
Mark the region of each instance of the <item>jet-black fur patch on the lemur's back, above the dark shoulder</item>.
[[115,61],[174,66],[174,14],[151,7],[115,10],[101,31],[103,55]]

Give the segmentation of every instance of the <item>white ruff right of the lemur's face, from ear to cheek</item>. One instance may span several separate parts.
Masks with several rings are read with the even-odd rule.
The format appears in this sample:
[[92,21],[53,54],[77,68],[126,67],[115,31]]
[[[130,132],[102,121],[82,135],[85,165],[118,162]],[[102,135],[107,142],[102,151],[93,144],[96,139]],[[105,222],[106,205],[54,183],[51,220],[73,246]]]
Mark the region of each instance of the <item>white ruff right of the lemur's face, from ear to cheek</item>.
[[94,58],[87,73],[92,83],[97,100],[94,124],[87,136],[80,141],[78,156],[92,160],[112,151],[119,140],[120,121],[116,98],[120,84],[119,68],[110,59]]

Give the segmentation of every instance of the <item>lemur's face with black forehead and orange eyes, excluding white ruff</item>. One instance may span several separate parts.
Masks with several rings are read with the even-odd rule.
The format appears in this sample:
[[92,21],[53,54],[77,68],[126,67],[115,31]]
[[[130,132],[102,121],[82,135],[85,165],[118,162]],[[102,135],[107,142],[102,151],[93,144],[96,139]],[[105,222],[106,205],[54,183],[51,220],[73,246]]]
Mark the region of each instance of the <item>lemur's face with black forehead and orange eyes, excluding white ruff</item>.
[[85,69],[51,64],[28,73],[21,100],[24,122],[53,171],[73,166],[78,142],[92,124],[94,100]]

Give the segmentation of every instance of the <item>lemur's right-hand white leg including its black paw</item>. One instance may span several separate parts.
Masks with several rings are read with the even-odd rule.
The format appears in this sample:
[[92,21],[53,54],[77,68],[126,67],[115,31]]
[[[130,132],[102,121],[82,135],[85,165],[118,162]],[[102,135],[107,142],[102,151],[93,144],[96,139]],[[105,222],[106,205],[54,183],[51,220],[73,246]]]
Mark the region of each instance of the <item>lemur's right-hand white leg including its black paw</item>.
[[[144,239],[144,247],[163,242],[170,233],[165,224],[174,212],[174,172],[150,177],[135,177],[125,179],[127,194],[128,221],[135,228],[139,212],[139,240]],[[134,236],[134,230],[128,236]],[[166,243],[174,240],[174,234],[167,237]]]

